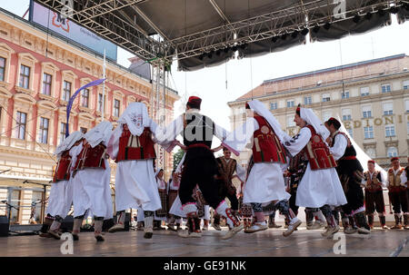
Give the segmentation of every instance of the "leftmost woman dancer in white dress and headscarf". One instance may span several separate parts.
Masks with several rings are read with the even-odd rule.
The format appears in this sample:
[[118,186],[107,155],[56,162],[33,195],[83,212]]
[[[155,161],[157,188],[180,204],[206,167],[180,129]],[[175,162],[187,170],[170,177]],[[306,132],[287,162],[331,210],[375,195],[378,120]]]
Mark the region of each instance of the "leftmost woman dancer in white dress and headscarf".
[[48,233],[56,240],[60,240],[59,229],[61,222],[65,219],[73,203],[71,168],[76,162],[76,156],[73,158],[70,152],[82,142],[83,138],[84,134],[79,131],[71,133],[55,150],[58,163],[53,175],[54,183],[51,185],[46,213],[55,217]]

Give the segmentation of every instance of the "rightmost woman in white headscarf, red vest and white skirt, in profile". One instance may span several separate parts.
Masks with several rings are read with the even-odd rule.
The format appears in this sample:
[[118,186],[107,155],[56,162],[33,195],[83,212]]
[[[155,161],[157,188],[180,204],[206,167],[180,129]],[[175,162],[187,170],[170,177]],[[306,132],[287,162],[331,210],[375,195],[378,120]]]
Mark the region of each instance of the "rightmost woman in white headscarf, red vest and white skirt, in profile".
[[313,110],[301,108],[300,105],[296,109],[294,122],[301,128],[300,133],[293,138],[284,133],[284,146],[293,156],[304,151],[308,158],[307,168],[297,188],[295,204],[309,208],[308,211],[313,213],[321,209],[328,223],[322,235],[332,237],[339,230],[339,225],[335,223],[330,205],[343,205],[346,198],[334,168],[334,157],[324,142],[329,131]]

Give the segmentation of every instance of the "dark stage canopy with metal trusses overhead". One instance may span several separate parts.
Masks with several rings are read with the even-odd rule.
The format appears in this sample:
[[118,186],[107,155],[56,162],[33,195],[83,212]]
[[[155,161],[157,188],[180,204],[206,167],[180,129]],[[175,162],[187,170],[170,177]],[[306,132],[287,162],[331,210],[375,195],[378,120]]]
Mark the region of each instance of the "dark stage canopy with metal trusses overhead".
[[[409,1],[35,0],[144,60],[193,71],[240,57],[362,34],[409,18]],[[73,4],[70,6],[70,3]]]

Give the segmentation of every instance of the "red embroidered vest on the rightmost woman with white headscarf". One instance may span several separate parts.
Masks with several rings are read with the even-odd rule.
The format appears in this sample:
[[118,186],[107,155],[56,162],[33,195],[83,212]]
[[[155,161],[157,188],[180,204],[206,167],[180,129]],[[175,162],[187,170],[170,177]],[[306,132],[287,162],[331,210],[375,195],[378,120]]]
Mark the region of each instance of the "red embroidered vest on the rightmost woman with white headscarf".
[[311,131],[311,139],[305,145],[304,152],[310,162],[311,170],[328,169],[336,167],[333,155],[326,146],[321,135],[315,132],[312,125],[307,125]]

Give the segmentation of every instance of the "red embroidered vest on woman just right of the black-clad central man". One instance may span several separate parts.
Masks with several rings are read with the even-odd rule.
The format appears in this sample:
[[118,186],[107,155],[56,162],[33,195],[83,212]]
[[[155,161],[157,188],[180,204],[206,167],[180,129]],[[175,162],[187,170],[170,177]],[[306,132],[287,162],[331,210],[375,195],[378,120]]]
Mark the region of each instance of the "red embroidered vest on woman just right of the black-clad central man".
[[254,116],[259,129],[254,131],[254,162],[286,163],[284,147],[278,140],[270,124],[262,116]]

